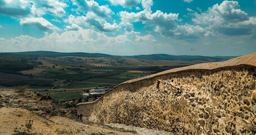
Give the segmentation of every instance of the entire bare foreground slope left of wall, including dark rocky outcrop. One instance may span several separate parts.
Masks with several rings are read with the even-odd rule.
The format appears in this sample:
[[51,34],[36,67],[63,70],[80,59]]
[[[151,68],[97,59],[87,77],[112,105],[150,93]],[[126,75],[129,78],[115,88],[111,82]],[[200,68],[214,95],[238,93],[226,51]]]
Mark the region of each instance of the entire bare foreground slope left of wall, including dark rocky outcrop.
[[136,134],[123,128],[67,118],[51,98],[32,92],[0,91],[0,134]]

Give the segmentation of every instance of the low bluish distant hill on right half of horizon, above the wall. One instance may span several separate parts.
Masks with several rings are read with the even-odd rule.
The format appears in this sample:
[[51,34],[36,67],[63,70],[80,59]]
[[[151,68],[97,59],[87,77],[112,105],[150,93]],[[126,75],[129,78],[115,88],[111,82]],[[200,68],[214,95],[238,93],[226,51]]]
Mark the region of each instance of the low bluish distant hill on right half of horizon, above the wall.
[[166,55],[166,54],[154,54],[154,55],[137,55],[128,56],[135,59],[144,60],[181,60],[181,61],[223,61],[231,59],[232,57],[209,57],[209,56],[189,56],[189,55]]

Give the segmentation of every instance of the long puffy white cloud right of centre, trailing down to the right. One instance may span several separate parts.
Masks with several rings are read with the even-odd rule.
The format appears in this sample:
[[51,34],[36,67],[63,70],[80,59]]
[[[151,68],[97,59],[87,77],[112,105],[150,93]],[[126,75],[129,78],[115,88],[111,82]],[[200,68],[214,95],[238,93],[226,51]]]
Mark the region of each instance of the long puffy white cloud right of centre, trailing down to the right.
[[157,10],[155,13],[149,9],[145,9],[140,12],[127,12],[121,11],[121,20],[123,24],[126,24],[127,31],[131,28],[130,22],[139,22],[147,26],[153,26],[154,30],[161,33],[165,37],[176,37],[178,39],[184,38],[202,38],[214,35],[210,31],[202,28],[199,25],[179,25],[178,13],[164,13]]

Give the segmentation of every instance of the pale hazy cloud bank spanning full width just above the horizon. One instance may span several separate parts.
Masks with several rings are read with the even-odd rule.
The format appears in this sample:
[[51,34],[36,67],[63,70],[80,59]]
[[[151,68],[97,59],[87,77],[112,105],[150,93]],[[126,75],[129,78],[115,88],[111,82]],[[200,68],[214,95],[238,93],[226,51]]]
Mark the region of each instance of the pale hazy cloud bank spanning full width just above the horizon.
[[[1,39],[3,52],[17,51],[57,51],[57,52],[98,52],[112,55],[142,55],[152,53],[167,53],[173,55],[245,55],[255,52],[255,39],[216,35],[215,38],[200,38],[197,40],[176,40],[175,38],[153,35],[140,35],[134,31],[126,32],[116,37],[90,29],[64,31],[64,33],[45,33],[42,38],[20,35],[11,39]],[[213,46],[214,43],[214,46]],[[231,46],[229,44],[232,44]],[[191,51],[191,47],[196,50]]]

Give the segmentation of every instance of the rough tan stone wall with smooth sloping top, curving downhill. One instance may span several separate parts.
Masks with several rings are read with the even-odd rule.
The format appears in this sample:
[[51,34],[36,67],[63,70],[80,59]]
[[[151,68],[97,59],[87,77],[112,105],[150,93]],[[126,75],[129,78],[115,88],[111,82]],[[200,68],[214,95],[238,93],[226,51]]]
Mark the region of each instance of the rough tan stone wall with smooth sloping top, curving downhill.
[[256,53],[128,80],[78,114],[174,134],[254,134]]

